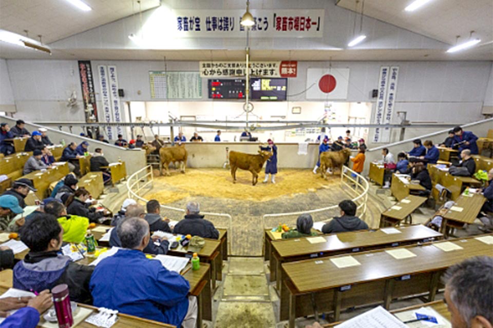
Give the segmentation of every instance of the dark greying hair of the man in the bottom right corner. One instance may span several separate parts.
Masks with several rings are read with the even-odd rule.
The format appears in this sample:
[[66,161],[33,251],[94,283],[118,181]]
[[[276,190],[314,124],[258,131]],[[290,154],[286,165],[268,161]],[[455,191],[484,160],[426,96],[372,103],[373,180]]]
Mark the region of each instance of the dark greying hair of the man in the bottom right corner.
[[467,326],[476,316],[493,322],[493,257],[478,256],[452,265],[443,276],[456,306]]

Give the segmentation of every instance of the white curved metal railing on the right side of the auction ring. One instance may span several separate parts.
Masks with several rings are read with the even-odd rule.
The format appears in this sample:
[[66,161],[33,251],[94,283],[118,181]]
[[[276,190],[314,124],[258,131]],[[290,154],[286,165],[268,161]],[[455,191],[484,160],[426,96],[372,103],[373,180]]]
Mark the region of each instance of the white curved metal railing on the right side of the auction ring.
[[[343,187],[343,190],[355,196],[351,200],[357,205],[356,215],[364,220],[367,210],[366,202],[368,200],[368,189],[370,188],[368,180],[359,173],[343,166],[340,172],[340,186]],[[344,189],[344,187],[347,187],[347,189]],[[265,230],[277,227],[279,223],[285,223],[288,224],[288,226],[296,226],[296,219],[298,215],[304,213],[321,214],[317,217],[317,219],[314,219],[314,221],[327,221],[334,216],[339,216],[339,206],[332,205],[321,209],[300,212],[265,214],[262,217],[263,229]]]

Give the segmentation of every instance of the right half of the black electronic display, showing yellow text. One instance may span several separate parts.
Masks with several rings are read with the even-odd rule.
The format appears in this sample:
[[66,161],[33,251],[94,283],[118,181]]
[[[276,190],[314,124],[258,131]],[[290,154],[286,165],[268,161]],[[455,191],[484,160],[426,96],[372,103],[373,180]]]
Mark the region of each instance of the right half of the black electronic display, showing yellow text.
[[252,100],[286,100],[287,78],[254,77],[250,82]]

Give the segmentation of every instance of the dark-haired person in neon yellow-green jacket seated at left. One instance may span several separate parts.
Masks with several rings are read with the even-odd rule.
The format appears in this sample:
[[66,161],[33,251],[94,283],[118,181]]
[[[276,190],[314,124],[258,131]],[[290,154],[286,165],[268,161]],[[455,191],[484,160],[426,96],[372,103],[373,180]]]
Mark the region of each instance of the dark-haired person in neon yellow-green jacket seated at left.
[[63,230],[62,240],[65,242],[83,242],[85,240],[89,219],[77,215],[67,215],[67,210],[60,201],[53,200],[43,207],[46,214],[53,215]]

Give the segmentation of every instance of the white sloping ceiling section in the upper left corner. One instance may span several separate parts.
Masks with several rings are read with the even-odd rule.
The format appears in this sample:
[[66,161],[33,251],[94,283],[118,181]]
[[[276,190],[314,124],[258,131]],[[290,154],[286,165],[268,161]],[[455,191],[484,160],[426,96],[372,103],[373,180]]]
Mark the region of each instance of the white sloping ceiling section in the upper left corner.
[[[0,28],[22,35],[28,30],[35,40],[41,34],[43,43],[48,44],[139,13],[136,0],[84,2],[91,11],[81,11],[65,0],[0,0]],[[141,0],[142,11],[159,4],[159,0]]]

